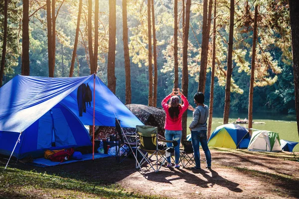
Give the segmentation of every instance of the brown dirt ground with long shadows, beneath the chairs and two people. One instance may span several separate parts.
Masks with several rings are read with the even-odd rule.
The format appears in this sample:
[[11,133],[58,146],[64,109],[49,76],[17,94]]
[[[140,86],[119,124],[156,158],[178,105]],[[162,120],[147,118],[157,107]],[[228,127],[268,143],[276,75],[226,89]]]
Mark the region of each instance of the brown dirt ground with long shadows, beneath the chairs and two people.
[[[200,149],[201,150],[201,149]],[[161,198],[299,198],[299,153],[258,153],[247,150],[211,149],[212,170],[193,171],[162,167],[159,172],[140,172],[135,159],[119,164],[114,157],[55,167],[39,168],[21,163],[10,167],[38,172],[77,173],[103,182],[117,183],[128,192]],[[201,167],[205,167],[201,151]],[[294,161],[296,160],[297,161]],[[3,160],[1,160],[1,166]]]

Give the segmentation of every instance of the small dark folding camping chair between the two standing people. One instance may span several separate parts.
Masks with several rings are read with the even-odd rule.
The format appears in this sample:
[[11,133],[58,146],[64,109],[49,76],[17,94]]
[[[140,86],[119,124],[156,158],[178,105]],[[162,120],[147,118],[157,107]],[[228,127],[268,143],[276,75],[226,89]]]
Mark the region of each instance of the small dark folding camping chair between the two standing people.
[[180,150],[179,162],[182,164],[183,168],[185,168],[188,165],[194,164],[194,153],[191,141],[183,140],[182,145],[184,149]]

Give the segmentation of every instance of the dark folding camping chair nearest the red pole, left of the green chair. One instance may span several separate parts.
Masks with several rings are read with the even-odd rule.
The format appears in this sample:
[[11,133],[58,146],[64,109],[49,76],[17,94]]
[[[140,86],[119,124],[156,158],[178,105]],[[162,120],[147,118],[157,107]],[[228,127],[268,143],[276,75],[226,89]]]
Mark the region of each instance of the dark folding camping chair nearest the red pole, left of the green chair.
[[116,159],[119,163],[122,163],[127,157],[129,157],[133,150],[136,148],[136,132],[124,133],[121,128],[121,120],[115,119],[116,139],[118,140],[119,147],[116,151]]

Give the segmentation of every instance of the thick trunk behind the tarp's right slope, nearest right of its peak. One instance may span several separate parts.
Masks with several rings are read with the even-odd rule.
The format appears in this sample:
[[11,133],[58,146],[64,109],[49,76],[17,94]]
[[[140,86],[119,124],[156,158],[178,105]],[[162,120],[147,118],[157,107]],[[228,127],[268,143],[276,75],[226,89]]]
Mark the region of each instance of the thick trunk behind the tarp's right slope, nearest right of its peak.
[[115,42],[116,42],[116,1],[109,0],[109,51],[108,51],[108,88],[115,94]]

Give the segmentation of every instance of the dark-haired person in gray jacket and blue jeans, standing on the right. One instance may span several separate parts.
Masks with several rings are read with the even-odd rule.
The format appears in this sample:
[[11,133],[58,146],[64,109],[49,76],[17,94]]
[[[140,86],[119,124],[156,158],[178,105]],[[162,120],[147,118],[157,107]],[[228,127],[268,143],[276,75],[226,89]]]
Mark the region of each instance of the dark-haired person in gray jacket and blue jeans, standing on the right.
[[194,95],[194,103],[196,107],[192,105],[188,106],[189,110],[193,111],[193,120],[189,125],[191,131],[191,140],[194,150],[195,167],[193,170],[201,170],[200,168],[200,154],[199,154],[199,143],[205,153],[207,166],[206,168],[211,169],[211,153],[207,143],[207,118],[209,114],[209,107],[204,102],[204,94],[198,92]]

